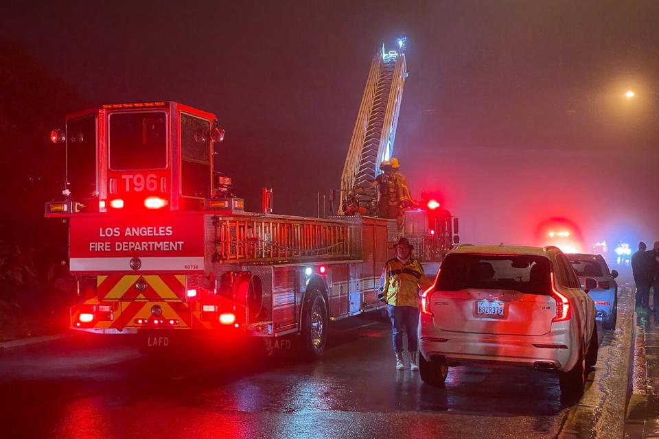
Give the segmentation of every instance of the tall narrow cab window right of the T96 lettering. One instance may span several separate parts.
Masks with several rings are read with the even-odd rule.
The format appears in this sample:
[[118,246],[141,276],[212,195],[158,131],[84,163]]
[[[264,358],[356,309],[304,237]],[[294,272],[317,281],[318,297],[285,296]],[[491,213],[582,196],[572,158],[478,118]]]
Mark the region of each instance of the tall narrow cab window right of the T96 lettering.
[[181,191],[184,196],[210,197],[210,133],[209,121],[181,113]]

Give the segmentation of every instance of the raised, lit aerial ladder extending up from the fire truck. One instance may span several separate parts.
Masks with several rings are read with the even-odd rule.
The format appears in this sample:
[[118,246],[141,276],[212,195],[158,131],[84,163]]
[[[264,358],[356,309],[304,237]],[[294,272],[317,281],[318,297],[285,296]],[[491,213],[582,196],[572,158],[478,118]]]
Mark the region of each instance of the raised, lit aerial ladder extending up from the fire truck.
[[[371,62],[357,122],[352,133],[341,176],[338,214],[344,215],[347,198],[356,196],[354,189],[375,180],[380,163],[393,155],[393,143],[407,77],[404,37],[397,40],[399,51],[386,51],[384,44]],[[376,195],[360,194],[360,205],[372,212]]]

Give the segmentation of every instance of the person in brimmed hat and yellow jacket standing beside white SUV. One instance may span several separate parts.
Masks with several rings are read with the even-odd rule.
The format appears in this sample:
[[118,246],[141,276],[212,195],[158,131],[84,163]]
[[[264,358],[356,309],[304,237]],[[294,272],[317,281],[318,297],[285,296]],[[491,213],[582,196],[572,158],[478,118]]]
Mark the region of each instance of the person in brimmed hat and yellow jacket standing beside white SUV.
[[417,326],[419,324],[419,288],[432,284],[419,261],[413,259],[410,241],[401,238],[395,245],[396,257],[384,264],[380,276],[380,295],[391,318],[393,352],[396,369],[403,370],[403,327],[407,333],[407,350],[411,370],[419,370],[417,361]]

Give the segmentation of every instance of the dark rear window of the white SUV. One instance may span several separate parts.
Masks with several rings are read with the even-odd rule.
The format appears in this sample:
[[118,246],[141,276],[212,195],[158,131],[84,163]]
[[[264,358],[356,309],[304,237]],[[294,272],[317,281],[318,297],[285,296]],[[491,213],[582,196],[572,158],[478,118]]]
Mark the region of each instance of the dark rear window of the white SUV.
[[437,291],[509,289],[551,294],[551,262],[529,254],[449,254],[441,263]]

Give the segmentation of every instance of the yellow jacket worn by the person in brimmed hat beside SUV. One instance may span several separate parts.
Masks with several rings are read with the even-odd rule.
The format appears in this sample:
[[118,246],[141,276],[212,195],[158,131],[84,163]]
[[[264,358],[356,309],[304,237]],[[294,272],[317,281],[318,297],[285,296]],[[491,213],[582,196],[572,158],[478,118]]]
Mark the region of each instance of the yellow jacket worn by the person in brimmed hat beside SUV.
[[380,276],[378,298],[395,307],[419,307],[419,288],[426,289],[432,282],[416,259],[403,264],[393,258],[386,261]]

